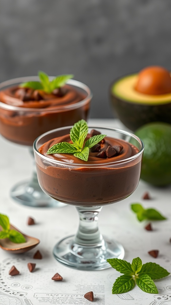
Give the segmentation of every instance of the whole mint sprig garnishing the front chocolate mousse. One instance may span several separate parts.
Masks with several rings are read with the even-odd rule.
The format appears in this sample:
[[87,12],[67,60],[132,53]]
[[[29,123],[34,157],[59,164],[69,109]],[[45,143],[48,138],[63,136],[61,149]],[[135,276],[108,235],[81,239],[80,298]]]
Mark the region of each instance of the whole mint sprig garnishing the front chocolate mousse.
[[88,134],[88,125],[85,120],[80,120],[74,124],[70,131],[70,138],[73,144],[61,142],[54,144],[47,151],[47,155],[52,153],[70,153],[75,157],[87,161],[89,157],[89,148],[99,143],[106,135],[95,135],[89,138],[84,145]]

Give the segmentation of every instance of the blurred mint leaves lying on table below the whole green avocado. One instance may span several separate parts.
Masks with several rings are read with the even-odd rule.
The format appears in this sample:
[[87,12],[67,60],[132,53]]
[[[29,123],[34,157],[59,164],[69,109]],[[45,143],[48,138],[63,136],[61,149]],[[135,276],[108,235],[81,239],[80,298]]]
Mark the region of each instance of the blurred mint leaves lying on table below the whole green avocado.
[[144,209],[140,203],[133,203],[131,204],[131,210],[137,214],[137,218],[139,221],[143,220],[166,220],[167,218],[162,216],[157,210],[155,209]]

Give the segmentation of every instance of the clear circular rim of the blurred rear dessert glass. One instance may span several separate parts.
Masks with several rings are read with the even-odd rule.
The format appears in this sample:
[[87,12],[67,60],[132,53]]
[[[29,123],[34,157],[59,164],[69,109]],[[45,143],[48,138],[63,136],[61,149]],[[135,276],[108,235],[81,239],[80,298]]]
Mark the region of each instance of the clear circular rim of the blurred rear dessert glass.
[[[54,76],[49,76],[49,79],[52,80],[54,78]],[[28,77],[17,77],[17,78],[13,78],[7,81],[3,81],[0,83],[0,91],[3,87],[6,86],[10,86],[10,85],[15,85],[15,83],[22,83],[22,82],[26,82],[26,81],[37,81],[39,80],[38,76],[28,76]],[[54,112],[54,110],[56,110],[56,112],[58,111],[65,111],[68,109],[75,109],[75,108],[79,108],[80,106],[85,105],[87,102],[89,102],[89,100],[92,99],[92,91],[90,90],[90,88],[85,85],[84,83],[80,82],[80,81],[76,81],[74,79],[69,79],[66,84],[68,85],[72,85],[78,88],[83,89],[86,93],[87,96],[85,97],[85,99],[83,99],[80,102],[71,104],[71,105],[64,105],[64,106],[58,106],[58,107],[52,107],[50,109],[48,108],[27,108],[27,107],[20,107],[20,106],[13,106],[13,105],[9,105],[9,104],[5,104],[3,102],[0,101],[0,108],[2,109],[7,109],[7,110],[13,110],[13,111],[22,111],[22,112],[31,112],[31,111],[38,111],[38,112]]]

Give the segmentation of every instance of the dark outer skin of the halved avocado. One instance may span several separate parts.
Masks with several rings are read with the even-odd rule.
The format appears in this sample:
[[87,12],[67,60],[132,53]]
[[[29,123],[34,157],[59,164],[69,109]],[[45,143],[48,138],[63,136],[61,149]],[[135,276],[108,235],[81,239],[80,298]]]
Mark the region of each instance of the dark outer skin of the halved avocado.
[[171,124],[171,101],[168,104],[147,105],[124,101],[111,93],[110,100],[114,115],[130,130],[135,131],[150,122]]

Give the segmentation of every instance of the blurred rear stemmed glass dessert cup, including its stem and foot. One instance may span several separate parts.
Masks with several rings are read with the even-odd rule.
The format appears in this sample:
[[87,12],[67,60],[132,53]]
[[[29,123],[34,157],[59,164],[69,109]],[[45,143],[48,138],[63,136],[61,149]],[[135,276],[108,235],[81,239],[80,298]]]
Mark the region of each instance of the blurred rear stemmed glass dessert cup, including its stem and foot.
[[[51,79],[53,77],[50,77]],[[5,81],[0,84],[0,93],[27,81],[39,81],[39,77],[21,77]],[[84,98],[80,102],[51,108],[16,106],[15,100],[17,99],[11,96],[7,96],[9,100],[7,103],[1,102],[0,99],[0,134],[11,142],[27,145],[33,156],[33,142],[39,135],[54,128],[74,124],[81,119],[87,120],[92,98],[90,89],[85,84],[75,80],[69,80],[67,85],[76,89]],[[35,163],[31,180],[14,185],[10,195],[15,201],[26,206],[65,206],[42,191],[37,180]]]

